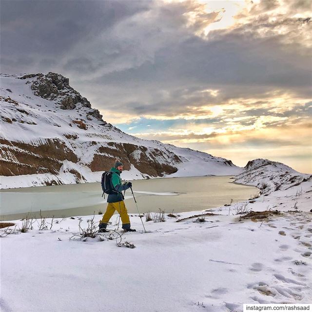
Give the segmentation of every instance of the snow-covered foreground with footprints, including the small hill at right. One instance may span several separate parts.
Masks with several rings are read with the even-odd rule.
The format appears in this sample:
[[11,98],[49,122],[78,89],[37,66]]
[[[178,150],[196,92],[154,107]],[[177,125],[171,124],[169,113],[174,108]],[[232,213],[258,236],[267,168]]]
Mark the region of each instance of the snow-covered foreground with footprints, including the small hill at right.
[[[279,168],[273,178],[272,165]],[[54,220],[40,231],[35,222],[33,230],[1,238],[1,311],[239,312],[243,303],[311,303],[311,178],[292,172],[297,177],[287,176],[274,191],[283,166],[254,161],[236,181],[257,185],[268,176],[272,185],[247,205],[209,210],[214,215],[205,222],[181,219],[207,212],[181,213],[179,222],[143,217],[144,233],[138,215],[131,215],[137,232],[123,234],[121,243],[134,249],[118,248],[109,234],[102,241],[69,239],[79,234],[78,217]],[[269,215],[239,220],[244,207]],[[83,216],[81,228],[91,218]],[[117,229],[117,220],[114,215],[109,229]],[[19,228],[23,221],[13,222]]]

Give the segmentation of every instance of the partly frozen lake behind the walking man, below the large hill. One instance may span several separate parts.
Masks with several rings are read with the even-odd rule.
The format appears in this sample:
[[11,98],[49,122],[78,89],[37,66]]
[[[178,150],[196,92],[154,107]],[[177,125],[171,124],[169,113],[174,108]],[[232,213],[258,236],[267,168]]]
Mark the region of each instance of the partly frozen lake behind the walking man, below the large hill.
[[[234,203],[258,193],[251,186],[232,183],[231,176],[158,178],[133,181],[140,213],[200,211]],[[100,183],[20,188],[0,191],[1,220],[15,220],[41,209],[44,216],[92,215],[105,212]],[[105,195],[107,196],[107,195]],[[137,213],[131,190],[126,191],[129,213]]]

